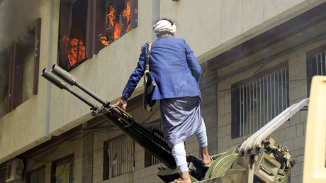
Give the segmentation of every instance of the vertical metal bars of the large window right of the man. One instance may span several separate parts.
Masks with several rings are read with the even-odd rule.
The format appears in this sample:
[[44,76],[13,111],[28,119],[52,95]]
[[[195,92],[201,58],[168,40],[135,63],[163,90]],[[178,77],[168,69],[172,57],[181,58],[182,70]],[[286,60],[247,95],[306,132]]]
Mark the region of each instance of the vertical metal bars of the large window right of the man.
[[254,133],[288,104],[288,69],[267,74],[240,86],[239,136]]

